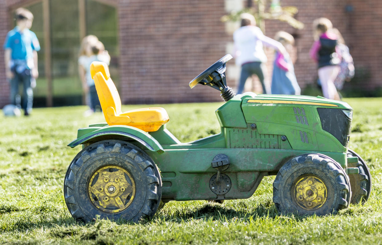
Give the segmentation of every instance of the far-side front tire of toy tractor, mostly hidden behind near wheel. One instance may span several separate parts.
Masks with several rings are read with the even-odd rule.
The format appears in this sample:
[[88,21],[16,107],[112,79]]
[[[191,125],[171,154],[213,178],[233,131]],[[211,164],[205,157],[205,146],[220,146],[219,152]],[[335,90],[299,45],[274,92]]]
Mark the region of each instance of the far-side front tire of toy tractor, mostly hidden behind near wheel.
[[359,174],[350,174],[351,204],[361,203],[362,205],[369,199],[372,187],[369,167],[365,161],[353,150],[348,150],[348,156],[358,157],[358,163],[348,163],[349,168],[358,168]]

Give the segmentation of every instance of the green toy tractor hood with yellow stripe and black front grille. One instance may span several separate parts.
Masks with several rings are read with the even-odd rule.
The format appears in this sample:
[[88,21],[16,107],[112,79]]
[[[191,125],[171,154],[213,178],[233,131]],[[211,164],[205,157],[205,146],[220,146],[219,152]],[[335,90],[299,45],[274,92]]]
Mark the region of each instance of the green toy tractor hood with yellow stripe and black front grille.
[[[345,152],[353,109],[346,102],[301,95],[242,98],[245,121],[264,135],[285,135],[293,149]],[[331,143],[329,143],[331,142]]]

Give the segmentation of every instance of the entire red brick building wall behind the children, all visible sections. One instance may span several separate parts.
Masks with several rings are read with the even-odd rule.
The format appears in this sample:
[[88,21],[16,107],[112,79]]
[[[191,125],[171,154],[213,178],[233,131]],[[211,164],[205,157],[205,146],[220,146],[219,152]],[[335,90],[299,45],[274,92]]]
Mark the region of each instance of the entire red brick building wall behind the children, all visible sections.
[[[106,0],[103,0],[106,1]],[[118,0],[113,0],[118,1]],[[31,0],[0,0],[0,43],[9,28],[9,8]],[[246,2],[246,1],[245,1]],[[296,30],[279,21],[266,21],[265,34],[285,30],[298,35],[295,71],[303,88],[316,79],[316,64],[308,55],[313,42],[312,21],[319,17],[332,20],[350,47],[357,69],[369,74],[363,83],[353,84],[366,89],[382,86],[382,2],[378,0],[282,0],[282,6],[297,6],[296,18],[305,24]],[[165,103],[220,101],[219,92],[188,82],[226,54],[232,42],[220,17],[225,15],[223,0],[119,0],[120,28],[120,94],[123,103]],[[345,11],[351,5],[353,11]],[[273,52],[269,55],[269,76]],[[0,72],[5,74],[4,52],[0,49]],[[230,61],[229,64],[233,64]],[[235,87],[236,81],[228,81]],[[8,103],[9,88],[5,76],[0,77],[0,108]]]

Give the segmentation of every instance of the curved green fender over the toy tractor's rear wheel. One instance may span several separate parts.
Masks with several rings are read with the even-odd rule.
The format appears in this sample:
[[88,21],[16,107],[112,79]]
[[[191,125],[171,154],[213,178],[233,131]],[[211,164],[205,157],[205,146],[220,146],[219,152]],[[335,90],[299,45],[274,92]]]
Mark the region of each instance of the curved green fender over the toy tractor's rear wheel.
[[[94,129],[94,130],[92,130]],[[77,139],[73,140],[68,144],[71,148],[76,147],[77,145],[86,143],[88,141],[100,141],[106,139],[127,139],[127,140],[135,140],[141,143],[148,150],[153,152],[163,153],[163,147],[160,143],[154,139],[147,132],[144,132],[141,129],[137,129],[136,127],[124,126],[124,125],[112,125],[105,127],[89,127],[84,129],[79,129],[80,131],[87,132]],[[89,132],[90,131],[90,132]],[[79,133],[80,135],[80,133]]]

